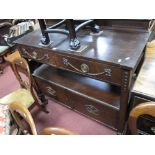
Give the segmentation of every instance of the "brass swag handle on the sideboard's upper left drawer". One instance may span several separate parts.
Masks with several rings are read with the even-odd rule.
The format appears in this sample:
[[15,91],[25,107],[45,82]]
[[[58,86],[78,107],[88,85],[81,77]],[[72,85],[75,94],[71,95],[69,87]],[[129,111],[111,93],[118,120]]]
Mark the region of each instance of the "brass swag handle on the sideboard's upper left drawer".
[[32,52],[32,55],[29,54],[29,52],[25,49],[25,48],[22,48],[22,51],[25,55],[29,56],[31,59],[36,59],[38,61],[42,61],[42,60],[48,60],[49,59],[49,56],[48,54],[44,54],[41,58],[37,58],[38,54],[37,52],[33,51]]

